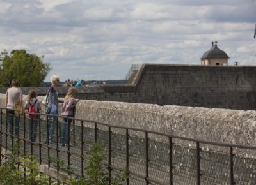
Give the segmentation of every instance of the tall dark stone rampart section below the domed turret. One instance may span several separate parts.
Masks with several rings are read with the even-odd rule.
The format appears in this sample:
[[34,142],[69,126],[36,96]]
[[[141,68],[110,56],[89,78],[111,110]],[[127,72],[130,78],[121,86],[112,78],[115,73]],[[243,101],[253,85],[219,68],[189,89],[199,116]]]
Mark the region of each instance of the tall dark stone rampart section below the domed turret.
[[136,82],[138,102],[254,110],[255,66],[145,64]]

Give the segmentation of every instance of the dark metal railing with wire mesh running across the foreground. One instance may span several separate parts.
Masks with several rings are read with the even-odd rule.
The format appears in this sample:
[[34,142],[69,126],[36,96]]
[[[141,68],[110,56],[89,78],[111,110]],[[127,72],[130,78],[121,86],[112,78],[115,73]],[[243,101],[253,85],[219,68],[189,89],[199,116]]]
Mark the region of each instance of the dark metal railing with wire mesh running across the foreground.
[[[65,117],[38,114],[38,119],[0,112],[0,147],[12,150],[21,144],[20,154],[33,154],[39,164],[51,157],[84,177],[86,152],[92,142],[104,145],[109,175],[129,170],[124,184],[256,184],[256,147],[221,144],[178,137],[144,129],[113,126],[84,119],[63,122]],[[67,126],[67,136],[64,131]],[[67,139],[67,145],[63,140]],[[186,143],[181,145],[180,143]],[[211,149],[216,149],[212,151]],[[6,160],[6,151],[0,161]]]

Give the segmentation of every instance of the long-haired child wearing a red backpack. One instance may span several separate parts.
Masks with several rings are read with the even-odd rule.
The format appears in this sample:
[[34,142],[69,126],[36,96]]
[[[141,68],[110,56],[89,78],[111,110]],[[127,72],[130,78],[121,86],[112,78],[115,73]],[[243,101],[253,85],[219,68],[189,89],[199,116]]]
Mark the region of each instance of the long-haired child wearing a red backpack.
[[[29,139],[32,142],[35,142],[37,129],[38,129],[38,115],[29,114],[29,113],[41,113],[41,105],[40,105],[40,101],[36,98],[36,91],[34,89],[31,89],[28,92],[27,100],[24,106],[24,110],[26,109],[28,110],[28,118],[29,118]],[[32,131],[33,133],[31,133]]]

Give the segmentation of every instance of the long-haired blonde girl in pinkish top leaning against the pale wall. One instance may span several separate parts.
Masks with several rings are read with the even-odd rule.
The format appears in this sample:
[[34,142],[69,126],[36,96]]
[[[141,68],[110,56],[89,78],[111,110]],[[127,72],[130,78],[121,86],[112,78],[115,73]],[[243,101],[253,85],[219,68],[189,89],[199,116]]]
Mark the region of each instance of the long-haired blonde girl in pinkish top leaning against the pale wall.
[[65,116],[64,118],[64,126],[61,131],[61,146],[65,147],[68,144],[68,124],[72,122],[72,119],[68,119],[68,117],[74,117],[74,108],[76,107],[77,101],[74,99],[76,96],[77,89],[76,87],[70,87],[68,89],[68,93],[64,98],[64,103],[62,106],[61,115]]

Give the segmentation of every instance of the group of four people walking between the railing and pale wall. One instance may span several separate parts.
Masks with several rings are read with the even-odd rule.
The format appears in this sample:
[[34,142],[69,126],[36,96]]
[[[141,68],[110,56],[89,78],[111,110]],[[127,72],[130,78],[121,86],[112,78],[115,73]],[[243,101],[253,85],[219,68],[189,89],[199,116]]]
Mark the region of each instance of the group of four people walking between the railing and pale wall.
[[[52,144],[52,138],[54,137],[54,131],[56,128],[57,117],[54,115],[58,115],[58,104],[59,104],[59,96],[56,87],[60,82],[60,77],[58,75],[52,75],[51,77],[51,87],[47,93],[47,105],[45,106],[46,114],[49,114],[49,133],[47,133],[49,144]],[[68,135],[68,124],[72,122],[72,119],[68,119],[70,117],[74,117],[75,107],[78,101],[75,100],[75,96],[77,93],[76,87],[70,86],[68,92],[64,98],[64,102],[62,105],[61,115],[63,116],[63,127],[61,128],[61,145],[65,147],[67,145],[67,135]],[[22,90],[19,88],[18,80],[12,80],[11,87],[6,91],[6,108],[8,114],[8,129],[10,134],[13,135],[13,128],[15,128],[15,135],[19,135],[19,122],[17,116],[13,117],[15,114],[15,105],[19,102],[23,105],[22,101]],[[24,103],[24,110],[36,110],[36,113],[42,113],[42,105],[40,101],[36,98],[36,91],[31,89],[28,92],[28,96],[26,97],[26,101]],[[27,114],[29,119],[29,139],[32,142],[36,141],[36,135],[38,130],[38,117],[32,118]],[[13,117],[13,119],[12,119]],[[13,126],[13,123],[15,126]],[[33,132],[33,135],[32,135]]]

